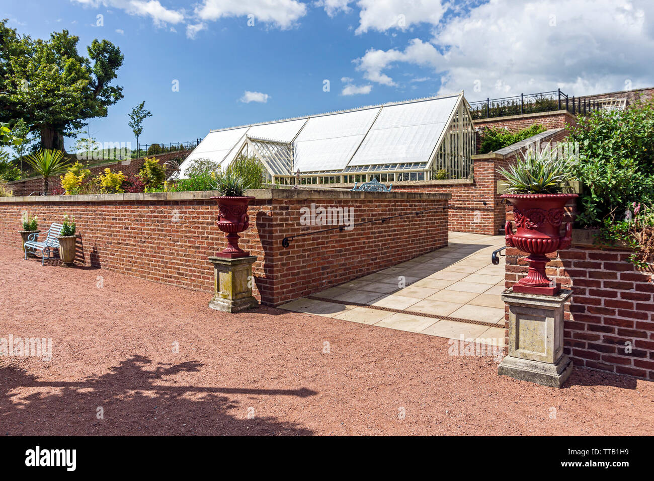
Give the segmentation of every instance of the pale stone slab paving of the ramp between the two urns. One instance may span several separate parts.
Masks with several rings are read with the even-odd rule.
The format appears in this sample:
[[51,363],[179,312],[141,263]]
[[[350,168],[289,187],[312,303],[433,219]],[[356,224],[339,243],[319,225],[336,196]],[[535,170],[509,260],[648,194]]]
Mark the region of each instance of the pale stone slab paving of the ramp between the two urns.
[[492,251],[502,246],[504,236],[450,232],[449,245],[443,249],[314,294],[330,302],[300,298],[279,307],[430,336],[494,339],[503,345],[504,257],[497,266],[490,262]]

